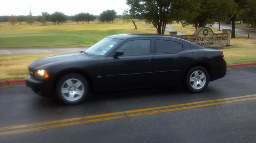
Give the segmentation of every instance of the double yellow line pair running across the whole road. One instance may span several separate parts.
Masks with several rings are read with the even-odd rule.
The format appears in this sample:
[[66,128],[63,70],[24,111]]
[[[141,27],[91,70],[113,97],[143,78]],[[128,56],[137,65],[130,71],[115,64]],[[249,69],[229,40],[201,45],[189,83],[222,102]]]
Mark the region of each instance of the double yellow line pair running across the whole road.
[[46,130],[46,129],[81,125],[81,124],[87,124],[87,123],[93,123],[93,122],[101,122],[106,120],[137,117],[142,115],[151,115],[154,113],[161,113],[161,112],[170,112],[170,111],[177,111],[177,110],[185,110],[185,109],[193,109],[193,108],[199,108],[199,107],[208,107],[208,106],[222,105],[222,104],[228,104],[228,103],[250,101],[255,99],[256,99],[256,94],[253,94],[253,95],[237,96],[237,97],[223,98],[223,99],[216,99],[216,100],[206,100],[206,101],[160,106],[160,107],[153,107],[153,108],[112,112],[112,113],[105,113],[101,115],[84,116],[84,117],[54,120],[54,121],[48,121],[48,122],[0,127],[0,135],[22,133],[22,132],[29,132],[29,131],[36,131],[36,130]]

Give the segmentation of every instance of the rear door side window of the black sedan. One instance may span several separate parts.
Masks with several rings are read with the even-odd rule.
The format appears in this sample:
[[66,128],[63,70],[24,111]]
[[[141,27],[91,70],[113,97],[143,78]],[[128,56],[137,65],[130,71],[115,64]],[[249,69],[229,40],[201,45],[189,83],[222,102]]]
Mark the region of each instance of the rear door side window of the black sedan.
[[183,48],[179,42],[168,40],[156,40],[156,53],[174,53]]

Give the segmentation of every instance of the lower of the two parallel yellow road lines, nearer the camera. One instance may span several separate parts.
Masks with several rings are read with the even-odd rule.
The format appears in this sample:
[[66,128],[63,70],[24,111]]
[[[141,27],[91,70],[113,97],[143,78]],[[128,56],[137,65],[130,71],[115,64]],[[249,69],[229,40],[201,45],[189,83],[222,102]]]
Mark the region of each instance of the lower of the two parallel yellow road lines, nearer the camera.
[[0,135],[21,133],[21,132],[29,132],[29,131],[37,131],[37,130],[46,130],[46,129],[53,129],[53,128],[59,128],[59,127],[67,127],[67,126],[87,124],[87,123],[92,123],[92,122],[101,122],[101,121],[107,121],[107,120],[121,119],[121,118],[125,118],[125,117],[137,117],[137,116],[143,116],[143,115],[151,115],[151,114],[155,114],[155,113],[170,112],[170,111],[185,110],[185,109],[193,109],[193,108],[199,108],[199,107],[208,107],[208,106],[215,106],[215,105],[222,105],[222,104],[236,103],[236,102],[243,102],[243,101],[250,101],[250,100],[256,100],[256,97],[246,98],[246,99],[239,99],[239,100],[224,101],[224,102],[209,103],[209,104],[201,104],[201,105],[195,105],[195,106],[187,106],[187,107],[147,111],[147,112],[141,112],[141,113],[133,113],[133,114],[130,114],[130,115],[124,115],[124,113],[123,113],[123,115],[115,116],[115,117],[92,119],[92,120],[87,120],[87,121],[64,123],[64,124],[51,125],[51,126],[42,126],[42,127],[29,128],[29,129],[5,131],[5,132],[0,132]]

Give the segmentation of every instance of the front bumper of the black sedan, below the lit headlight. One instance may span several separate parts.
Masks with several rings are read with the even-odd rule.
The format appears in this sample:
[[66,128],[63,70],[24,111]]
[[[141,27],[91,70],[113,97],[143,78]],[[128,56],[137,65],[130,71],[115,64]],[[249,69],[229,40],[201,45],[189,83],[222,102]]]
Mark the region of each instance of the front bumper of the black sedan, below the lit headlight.
[[48,80],[39,80],[30,75],[25,78],[27,87],[30,87],[35,93],[42,96],[52,96],[52,83]]

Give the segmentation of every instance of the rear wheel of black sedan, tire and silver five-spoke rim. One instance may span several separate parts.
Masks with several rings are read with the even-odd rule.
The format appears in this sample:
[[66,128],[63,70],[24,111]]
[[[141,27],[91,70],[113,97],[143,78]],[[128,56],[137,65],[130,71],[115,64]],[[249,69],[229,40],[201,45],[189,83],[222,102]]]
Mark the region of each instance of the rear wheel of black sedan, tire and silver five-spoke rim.
[[[198,71],[198,76],[196,76],[196,73]],[[200,78],[203,77],[203,74],[205,75],[205,78]],[[191,77],[191,79],[190,79]],[[193,81],[190,81],[194,79]],[[209,74],[207,70],[203,67],[197,66],[191,68],[185,77],[184,80],[184,85],[185,88],[191,92],[191,93],[200,93],[203,90],[205,90],[208,86],[209,83]]]

